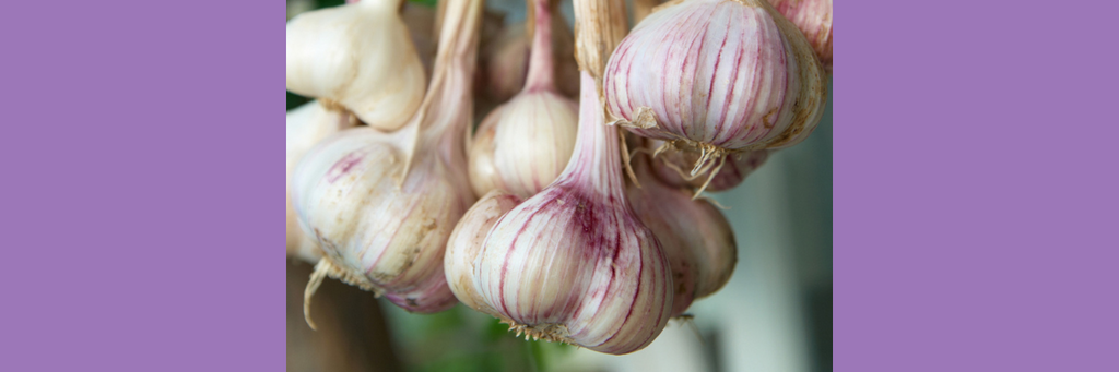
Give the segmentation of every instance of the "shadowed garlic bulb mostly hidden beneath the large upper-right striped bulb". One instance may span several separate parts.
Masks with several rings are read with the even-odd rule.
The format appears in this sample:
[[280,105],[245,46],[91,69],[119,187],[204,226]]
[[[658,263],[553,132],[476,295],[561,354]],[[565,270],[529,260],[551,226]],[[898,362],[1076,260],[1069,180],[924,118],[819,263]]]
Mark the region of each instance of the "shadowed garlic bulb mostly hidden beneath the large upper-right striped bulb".
[[[650,149],[657,149],[657,140],[649,141]],[[702,154],[678,149],[669,149],[657,154],[653,170],[657,178],[675,188],[693,188],[700,191],[724,191],[733,189],[746,179],[754,170],[765,163],[773,150],[744,151],[724,154],[723,158],[709,162],[707,170],[700,170],[696,175],[686,171],[699,161]]]

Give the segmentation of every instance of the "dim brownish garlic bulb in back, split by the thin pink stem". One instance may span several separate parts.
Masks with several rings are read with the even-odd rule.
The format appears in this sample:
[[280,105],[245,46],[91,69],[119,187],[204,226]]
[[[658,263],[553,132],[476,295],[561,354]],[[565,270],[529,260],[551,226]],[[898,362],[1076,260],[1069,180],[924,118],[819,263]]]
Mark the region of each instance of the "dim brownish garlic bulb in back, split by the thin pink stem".
[[[533,1],[533,0],[530,0]],[[554,89],[564,96],[579,95],[579,65],[575,64],[575,41],[558,11],[549,11],[551,47],[555,49],[552,63],[555,66],[552,74],[555,77]],[[537,17],[538,19],[538,17]],[[523,90],[529,75],[529,55],[535,42],[534,30],[527,29],[528,22],[509,25],[501,29],[492,44],[485,46],[480,64],[482,68],[481,88],[491,99],[506,102]],[[536,29],[542,25],[537,22]]]

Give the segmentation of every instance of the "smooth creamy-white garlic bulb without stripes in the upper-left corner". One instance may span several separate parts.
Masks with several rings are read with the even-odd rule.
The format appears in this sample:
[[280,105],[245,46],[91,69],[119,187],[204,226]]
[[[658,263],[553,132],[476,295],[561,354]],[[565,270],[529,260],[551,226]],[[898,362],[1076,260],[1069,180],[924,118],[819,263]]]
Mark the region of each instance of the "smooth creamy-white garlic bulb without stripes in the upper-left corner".
[[424,95],[423,64],[397,11],[365,0],[288,22],[288,90],[337,102],[383,131],[403,126]]

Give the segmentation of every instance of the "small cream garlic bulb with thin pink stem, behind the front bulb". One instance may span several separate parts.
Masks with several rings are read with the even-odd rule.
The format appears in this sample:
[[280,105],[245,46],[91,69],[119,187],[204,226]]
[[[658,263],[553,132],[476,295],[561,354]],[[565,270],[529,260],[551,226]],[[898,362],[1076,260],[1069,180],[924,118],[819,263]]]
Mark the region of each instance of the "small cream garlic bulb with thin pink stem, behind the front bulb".
[[547,0],[535,2],[538,27],[528,82],[486,116],[470,146],[470,184],[477,195],[501,189],[532,197],[560,175],[575,146],[577,106],[555,90],[552,17]]

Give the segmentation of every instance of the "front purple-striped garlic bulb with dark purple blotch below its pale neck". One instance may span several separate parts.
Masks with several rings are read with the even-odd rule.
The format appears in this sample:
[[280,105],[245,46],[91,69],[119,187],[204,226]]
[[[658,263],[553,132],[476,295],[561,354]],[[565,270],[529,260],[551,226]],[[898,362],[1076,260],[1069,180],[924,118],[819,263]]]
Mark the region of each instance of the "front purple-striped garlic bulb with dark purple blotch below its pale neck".
[[455,228],[445,270],[455,296],[518,335],[626,354],[665,328],[671,270],[626,199],[619,134],[585,71],[581,85],[567,168],[519,204],[499,190],[483,197]]

